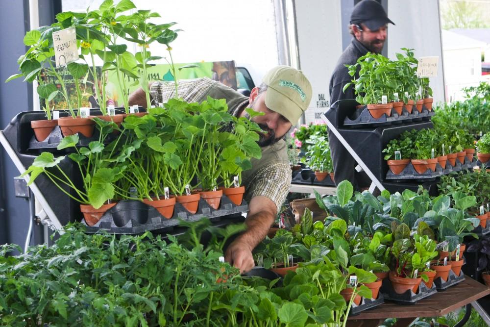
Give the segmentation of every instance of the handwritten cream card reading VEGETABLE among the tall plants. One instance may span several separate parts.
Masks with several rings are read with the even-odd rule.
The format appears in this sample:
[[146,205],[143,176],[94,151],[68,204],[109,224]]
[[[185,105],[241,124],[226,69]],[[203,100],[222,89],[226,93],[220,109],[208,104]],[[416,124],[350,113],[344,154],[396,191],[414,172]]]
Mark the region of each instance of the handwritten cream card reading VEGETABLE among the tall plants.
[[75,27],[68,27],[53,33],[53,49],[56,67],[66,66],[78,60]]

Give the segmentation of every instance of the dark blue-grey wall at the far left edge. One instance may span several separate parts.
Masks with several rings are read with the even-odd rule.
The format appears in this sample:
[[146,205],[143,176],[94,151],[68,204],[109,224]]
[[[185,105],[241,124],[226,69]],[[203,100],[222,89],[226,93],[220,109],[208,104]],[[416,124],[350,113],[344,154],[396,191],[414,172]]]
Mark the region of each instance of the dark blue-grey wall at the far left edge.
[[[39,0],[39,24],[50,25],[61,11],[61,0]],[[32,110],[32,84],[22,78],[3,83],[18,73],[17,59],[27,50],[25,32],[30,30],[29,1],[2,0],[0,10],[0,129],[21,111]],[[29,226],[29,205],[16,198],[13,178],[19,171],[0,146],[0,244],[24,246]]]

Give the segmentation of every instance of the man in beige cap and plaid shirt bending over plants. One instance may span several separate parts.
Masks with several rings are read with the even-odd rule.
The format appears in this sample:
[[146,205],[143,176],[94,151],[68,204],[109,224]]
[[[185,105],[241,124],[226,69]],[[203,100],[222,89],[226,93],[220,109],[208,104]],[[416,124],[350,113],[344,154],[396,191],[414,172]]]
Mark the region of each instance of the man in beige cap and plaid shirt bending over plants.
[[[245,97],[220,82],[209,78],[180,80],[177,91],[173,83],[154,82],[149,93],[154,104],[181,98],[187,102],[202,102],[207,96],[225,99],[228,112],[236,117],[250,118],[245,108],[250,107],[263,115],[250,118],[263,134],[257,143],[262,157],[253,158],[252,169],[243,173],[245,200],[248,201],[247,229],[230,244],[225,259],[241,273],[255,264],[252,250],[267,235],[274,218],[289,192],[291,168],[283,136],[296,125],[308,108],[312,96],[311,84],[301,71],[288,66],[277,66],[263,78],[259,87]],[[175,93],[178,92],[178,96]],[[130,95],[129,103],[146,106],[146,94],[138,89]]]

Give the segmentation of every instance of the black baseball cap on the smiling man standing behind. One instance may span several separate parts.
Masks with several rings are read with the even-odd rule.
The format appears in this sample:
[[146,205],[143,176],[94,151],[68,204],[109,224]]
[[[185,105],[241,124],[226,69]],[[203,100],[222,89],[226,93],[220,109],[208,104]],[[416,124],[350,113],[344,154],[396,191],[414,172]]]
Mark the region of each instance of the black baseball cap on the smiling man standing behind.
[[354,6],[350,15],[350,24],[364,24],[372,31],[377,31],[381,26],[393,23],[386,14],[383,6],[375,0],[362,0]]

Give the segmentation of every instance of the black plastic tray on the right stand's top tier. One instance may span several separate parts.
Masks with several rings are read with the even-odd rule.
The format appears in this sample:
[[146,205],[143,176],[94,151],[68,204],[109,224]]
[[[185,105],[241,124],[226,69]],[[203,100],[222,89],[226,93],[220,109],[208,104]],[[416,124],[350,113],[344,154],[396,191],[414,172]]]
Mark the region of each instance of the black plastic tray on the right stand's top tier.
[[414,107],[412,113],[410,114],[405,109],[405,107],[403,107],[401,115],[398,115],[394,111],[394,109],[392,109],[392,114],[390,117],[388,117],[386,114],[383,114],[380,118],[375,119],[369,113],[368,107],[364,106],[360,109],[356,109],[350,117],[345,117],[343,121],[343,126],[355,128],[403,124],[422,120],[430,120],[430,118],[434,115],[434,111],[428,111],[425,107],[422,108],[422,112],[418,112],[417,109],[415,109]]

